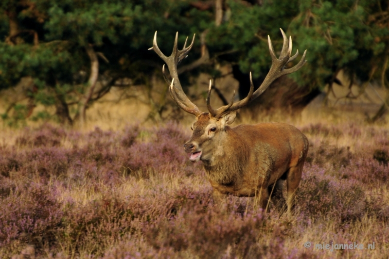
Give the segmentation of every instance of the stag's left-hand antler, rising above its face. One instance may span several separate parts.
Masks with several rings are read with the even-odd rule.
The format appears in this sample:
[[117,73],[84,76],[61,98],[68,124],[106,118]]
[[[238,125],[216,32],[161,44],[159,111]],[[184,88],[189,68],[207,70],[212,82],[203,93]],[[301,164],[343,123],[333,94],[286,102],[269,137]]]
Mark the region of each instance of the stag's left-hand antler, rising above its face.
[[193,35],[192,43],[188,47],[186,47],[186,43],[188,41],[188,37],[186,37],[184,48],[179,50],[177,48],[177,42],[178,42],[178,32],[176,33],[176,39],[174,40],[174,46],[173,46],[173,52],[170,55],[170,57],[166,57],[162,51],[158,48],[157,45],[157,32],[154,34],[154,40],[153,40],[153,47],[151,47],[149,50],[154,50],[159,57],[167,64],[170,75],[172,76],[172,81],[170,82],[165,74],[165,65],[162,67],[162,73],[165,81],[170,84],[169,92],[170,96],[176,101],[177,105],[181,107],[182,110],[184,110],[187,113],[192,113],[195,116],[199,115],[201,112],[198,109],[198,107],[189,100],[189,98],[185,95],[184,91],[182,90],[181,83],[178,79],[178,73],[177,73],[177,65],[187,57],[187,53],[189,50],[192,49],[193,42],[195,41],[195,34]]

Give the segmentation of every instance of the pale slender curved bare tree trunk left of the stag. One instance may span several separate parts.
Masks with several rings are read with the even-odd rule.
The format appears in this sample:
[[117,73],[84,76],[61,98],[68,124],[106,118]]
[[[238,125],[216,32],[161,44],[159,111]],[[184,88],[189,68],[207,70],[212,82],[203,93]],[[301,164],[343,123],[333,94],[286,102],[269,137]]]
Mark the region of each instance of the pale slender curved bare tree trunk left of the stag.
[[94,88],[96,86],[97,78],[99,76],[99,60],[97,59],[96,52],[94,51],[91,44],[88,44],[85,47],[89,59],[90,59],[90,75],[88,80],[88,87],[85,91],[85,96],[81,100],[81,108],[80,108],[80,124],[81,127],[85,126],[86,122],[86,110],[88,107],[88,102],[93,95]]

